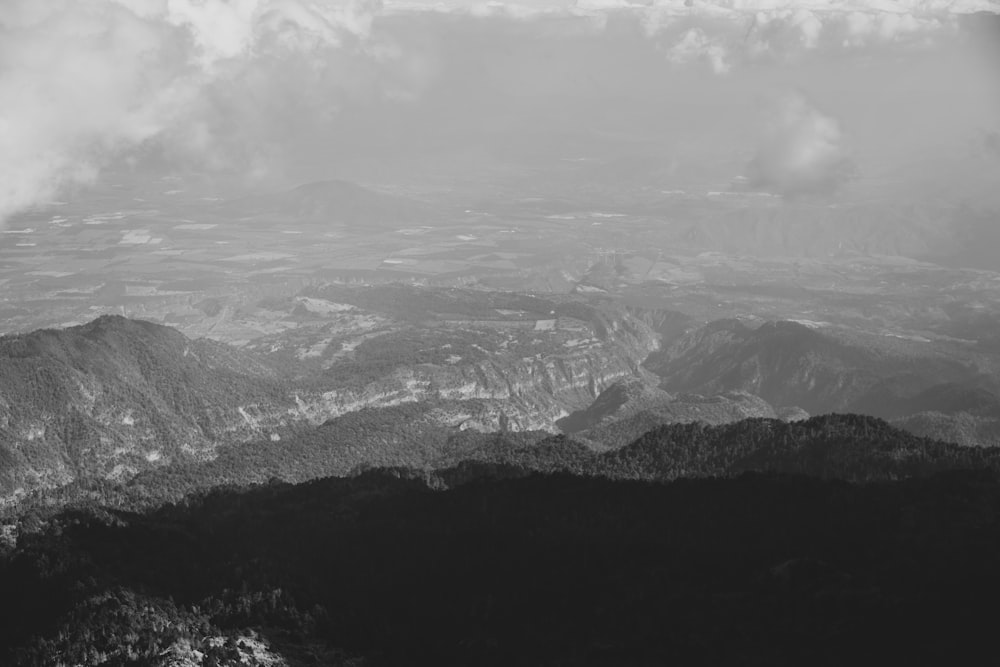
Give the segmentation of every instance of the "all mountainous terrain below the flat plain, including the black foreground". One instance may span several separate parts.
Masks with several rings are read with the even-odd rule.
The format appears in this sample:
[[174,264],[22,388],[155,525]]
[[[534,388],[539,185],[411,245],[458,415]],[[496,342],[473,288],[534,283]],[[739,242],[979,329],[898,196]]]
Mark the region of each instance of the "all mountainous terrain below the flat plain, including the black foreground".
[[[407,326],[466,303],[433,298],[450,305]],[[401,352],[416,366],[362,354],[302,375],[117,316],[0,339],[0,661],[772,665],[984,648],[1000,449],[897,426],[989,432],[972,365],[793,322],[682,333],[556,305],[600,345],[483,353],[496,377],[471,393],[390,391],[400,373],[452,377],[419,347]],[[894,423],[794,407],[883,386],[895,399],[872,405]],[[518,401],[561,416],[522,428]]]

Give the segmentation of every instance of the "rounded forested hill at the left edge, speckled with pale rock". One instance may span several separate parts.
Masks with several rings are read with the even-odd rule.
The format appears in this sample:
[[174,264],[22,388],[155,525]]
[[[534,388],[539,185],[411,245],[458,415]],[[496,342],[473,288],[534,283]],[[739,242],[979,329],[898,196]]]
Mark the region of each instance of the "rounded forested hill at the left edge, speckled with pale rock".
[[0,494],[127,478],[276,425],[279,375],[254,357],[105,316],[0,338]]

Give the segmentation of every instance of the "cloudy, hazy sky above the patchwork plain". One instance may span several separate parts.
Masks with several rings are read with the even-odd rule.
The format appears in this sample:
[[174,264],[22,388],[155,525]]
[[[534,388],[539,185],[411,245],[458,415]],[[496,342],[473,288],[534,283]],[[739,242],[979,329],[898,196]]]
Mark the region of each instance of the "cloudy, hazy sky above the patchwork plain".
[[986,187],[1000,179],[998,13],[997,0],[2,0],[0,220],[123,169],[258,188],[373,163],[485,174],[653,156],[789,198]]

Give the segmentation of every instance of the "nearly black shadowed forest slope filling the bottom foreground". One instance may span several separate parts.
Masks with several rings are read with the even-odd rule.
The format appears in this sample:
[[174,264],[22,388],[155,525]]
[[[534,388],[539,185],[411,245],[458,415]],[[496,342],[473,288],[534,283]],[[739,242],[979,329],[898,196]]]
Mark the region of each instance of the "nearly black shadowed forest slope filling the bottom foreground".
[[982,473],[379,471],[67,513],[0,561],[0,663],[967,664],[992,649],[998,516]]

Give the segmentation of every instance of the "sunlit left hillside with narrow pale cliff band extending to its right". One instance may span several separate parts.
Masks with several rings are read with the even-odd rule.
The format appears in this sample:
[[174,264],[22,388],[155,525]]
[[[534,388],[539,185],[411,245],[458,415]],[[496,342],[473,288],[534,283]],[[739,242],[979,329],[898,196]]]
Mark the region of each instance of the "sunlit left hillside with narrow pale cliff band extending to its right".
[[[547,354],[494,350],[472,363],[403,365],[360,385],[313,380],[308,390],[251,355],[121,317],[3,338],[0,495],[127,479],[211,459],[223,444],[277,442],[296,424],[415,401],[454,403],[441,411],[447,426],[554,431],[657,348],[655,332],[624,312],[602,315],[593,330]],[[480,407],[457,409],[468,399]]]

